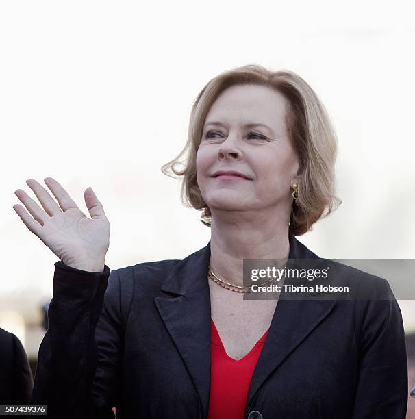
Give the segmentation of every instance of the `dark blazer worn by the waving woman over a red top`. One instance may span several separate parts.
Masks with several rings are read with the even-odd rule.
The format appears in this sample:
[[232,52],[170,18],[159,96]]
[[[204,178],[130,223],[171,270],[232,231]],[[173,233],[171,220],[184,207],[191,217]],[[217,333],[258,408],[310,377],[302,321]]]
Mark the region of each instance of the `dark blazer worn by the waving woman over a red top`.
[[[290,236],[289,257],[317,256]],[[47,403],[53,418],[113,418],[111,407],[121,419],[207,418],[209,259],[210,242],[183,260],[112,272],[56,262],[32,403]],[[385,279],[344,272],[391,294]],[[245,418],[403,419],[406,407],[405,337],[393,296],[278,301]]]

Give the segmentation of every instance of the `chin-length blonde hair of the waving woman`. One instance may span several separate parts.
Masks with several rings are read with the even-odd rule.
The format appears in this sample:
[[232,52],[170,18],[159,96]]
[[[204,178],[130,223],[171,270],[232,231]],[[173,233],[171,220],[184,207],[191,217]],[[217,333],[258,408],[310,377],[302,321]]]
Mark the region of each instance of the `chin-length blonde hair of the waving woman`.
[[[244,84],[267,86],[283,94],[288,101],[286,125],[301,168],[289,233],[300,236],[312,230],[317,220],[328,216],[342,201],[334,194],[336,133],[314,90],[292,71],[274,72],[260,65],[249,64],[225,71],[211,79],[192,104],[188,140],[184,149],[162,166],[162,173],[171,177],[174,177],[174,173],[182,177],[181,201],[186,207],[203,210],[203,218],[207,220],[205,224],[209,225],[210,208],[203,201],[197,184],[197,149],[207,112],[216,98],[226,88]],[[183,167],[177,168],[179,164]]]

